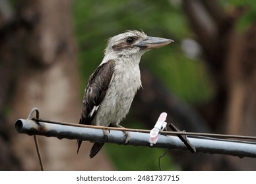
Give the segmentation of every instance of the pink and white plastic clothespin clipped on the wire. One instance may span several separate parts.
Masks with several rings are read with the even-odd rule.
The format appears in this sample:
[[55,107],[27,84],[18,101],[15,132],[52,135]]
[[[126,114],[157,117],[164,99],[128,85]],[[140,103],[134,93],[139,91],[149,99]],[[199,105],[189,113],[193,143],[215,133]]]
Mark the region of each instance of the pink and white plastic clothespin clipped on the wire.
[[166,112],[162,112],[156,122],[156,124],[154,125],[154,128],[151,129],[150,133],[149,133],[149,143],[150,146],[156,144],[158,137],[159,137],[159,131],[163,130],[166,128],[166,117],[167,117],[167,113]]

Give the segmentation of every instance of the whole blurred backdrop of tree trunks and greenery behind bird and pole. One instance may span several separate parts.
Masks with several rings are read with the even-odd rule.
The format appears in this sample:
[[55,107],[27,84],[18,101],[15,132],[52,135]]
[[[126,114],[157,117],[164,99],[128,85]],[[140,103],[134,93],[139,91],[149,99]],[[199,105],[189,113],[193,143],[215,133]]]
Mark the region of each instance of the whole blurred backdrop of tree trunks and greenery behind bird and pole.
[[[86,81],[106,40],[125,30],[174,39],[141,59],[125,127],[152,129],[161,112],[179,129],[256,136],[256,3],[228,0],[1,0],[0,170],[40,170],[34,140],[15,132],[33,107],[79,123]],[[158,170],[165,150],[40,137],[46,170]],[[163,170],[256,170],[255,158],[169,150]]]

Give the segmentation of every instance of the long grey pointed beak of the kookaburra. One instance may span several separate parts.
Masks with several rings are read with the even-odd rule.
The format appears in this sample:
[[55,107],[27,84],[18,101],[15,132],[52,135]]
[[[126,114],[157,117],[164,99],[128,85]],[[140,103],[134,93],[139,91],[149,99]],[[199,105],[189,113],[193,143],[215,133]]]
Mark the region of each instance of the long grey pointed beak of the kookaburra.
[[148,36],[147,39],[135,44],[135,46],[141,49],[156,49],[172,42],[174,42],[172,39]]

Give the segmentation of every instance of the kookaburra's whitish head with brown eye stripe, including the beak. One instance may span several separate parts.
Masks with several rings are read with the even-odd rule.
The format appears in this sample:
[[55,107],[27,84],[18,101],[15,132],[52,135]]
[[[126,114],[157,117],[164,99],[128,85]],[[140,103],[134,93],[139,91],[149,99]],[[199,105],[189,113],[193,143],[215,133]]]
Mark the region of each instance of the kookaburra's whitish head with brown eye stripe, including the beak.
[[105,58],[124,57],[140,59],[146,51],[163,47],[172,42],[172,39],[150,37],[144,34],[143,31],[132,30],[108,39],[108,46],[105,49],[104,55]]

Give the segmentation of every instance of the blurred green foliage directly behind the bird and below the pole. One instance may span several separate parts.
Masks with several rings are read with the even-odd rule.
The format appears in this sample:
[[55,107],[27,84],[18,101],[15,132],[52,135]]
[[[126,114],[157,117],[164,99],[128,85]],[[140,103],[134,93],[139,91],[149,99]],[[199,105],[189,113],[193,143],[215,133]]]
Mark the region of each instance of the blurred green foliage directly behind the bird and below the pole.
[[[73,1],[75,36],[79,47],[81,98],[88,77],[100,64],[106,39],[125,30],[143,30],[174,43],[146,53],[141,66],[148,68],[172,93],[189,104],[202,103],[214,95],[201,60],[192,60],[181,51],[181,41],[191,37],[179,3],[171,1]],[[175,1],[174,1],[175,2]],[[156,117],[157,119],[158,117]],[[140,123],[129,127],[138,127]],[[106,144],[117,170],[158,170],[158,157],[164,149],[125,147]],[[125,159],[125,162],[123,161]],[[162,158],[164,170],[177,170],[172,158]]]

